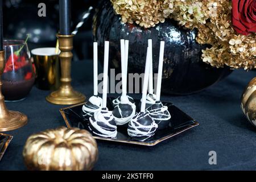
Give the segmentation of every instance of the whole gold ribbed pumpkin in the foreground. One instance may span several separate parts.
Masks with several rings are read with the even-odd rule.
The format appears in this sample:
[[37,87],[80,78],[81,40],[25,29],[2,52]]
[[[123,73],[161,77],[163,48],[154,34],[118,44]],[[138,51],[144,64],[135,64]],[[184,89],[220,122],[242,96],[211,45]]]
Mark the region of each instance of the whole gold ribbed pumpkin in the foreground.
[[29,170],[91,170],[98,159],[98,148],[89,131],[59,127],[28,137],[23,158]]

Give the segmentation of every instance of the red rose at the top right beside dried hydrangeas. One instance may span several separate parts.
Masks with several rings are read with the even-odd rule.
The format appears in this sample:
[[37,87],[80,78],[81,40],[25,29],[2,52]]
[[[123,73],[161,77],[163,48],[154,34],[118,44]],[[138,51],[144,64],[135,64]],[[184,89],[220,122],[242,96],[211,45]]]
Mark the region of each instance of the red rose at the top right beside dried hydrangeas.
[[256,32],[256,0],[232,0],[233,28],[239,34]]

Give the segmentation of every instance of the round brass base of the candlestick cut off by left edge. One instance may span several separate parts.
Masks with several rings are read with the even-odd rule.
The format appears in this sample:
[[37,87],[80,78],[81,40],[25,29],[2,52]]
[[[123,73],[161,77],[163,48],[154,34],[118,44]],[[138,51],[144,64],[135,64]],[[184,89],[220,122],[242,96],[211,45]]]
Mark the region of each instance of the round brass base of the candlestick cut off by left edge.
[[0,118],[0,131],[18,129],[27,124],[27,116],[18,111],[7,111],[8,114]]

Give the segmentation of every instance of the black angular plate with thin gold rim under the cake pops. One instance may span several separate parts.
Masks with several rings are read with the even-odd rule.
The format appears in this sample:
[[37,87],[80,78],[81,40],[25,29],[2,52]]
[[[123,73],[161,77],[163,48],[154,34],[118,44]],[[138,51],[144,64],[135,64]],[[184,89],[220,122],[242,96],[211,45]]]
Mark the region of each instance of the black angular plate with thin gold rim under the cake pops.
[[[109,110],[113,110],[112,100],[113,98],[108,98],[107,107],[109,108]],[[139,100],[135,100],[135,103],[137,105],[138,105],[138,102]],[[84,103],[70,106],[70,107],[65,107],[63,109],[60,109],[60,113],[63,116],[65,123],[68,127],[79,127],[80,129],[85,129],[90,131],[88,129],[88,121],[85,121],[84,117],[82,117],[82,105],[84,105]],[[139,144],[144,146],[154,146],[155,144],[158,144],[163,140],[174,137],[175,135],[180,134],[185,130],[191,129],[192,127],[199,125],[199,123],[197,123],[193,118],[189,117],[189,115],[185,114],[175,105],[168,102],[163,102],[163,105],[168,106],[168,110],[170,111],[170,114],[171,114],[171,119],[170,119],[171,125],[164,130],[156,131],[153,137],[151,137],[150,139],[144,142],[133,140],[127,134],[127,126],[117,126],[116,138],[104,138],[104,137],[98,137],[95,135],[93,137],[96,139],[109,140],[113,142],[133,143],[133,144]]]

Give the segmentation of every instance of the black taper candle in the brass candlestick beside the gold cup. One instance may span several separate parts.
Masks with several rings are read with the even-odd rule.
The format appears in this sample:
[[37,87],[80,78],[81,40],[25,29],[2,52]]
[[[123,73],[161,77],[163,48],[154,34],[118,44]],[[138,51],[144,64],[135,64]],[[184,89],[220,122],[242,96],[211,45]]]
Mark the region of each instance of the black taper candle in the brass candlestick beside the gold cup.
[[59,1],[61,35],[70,35],[70,8],[70,0]]

